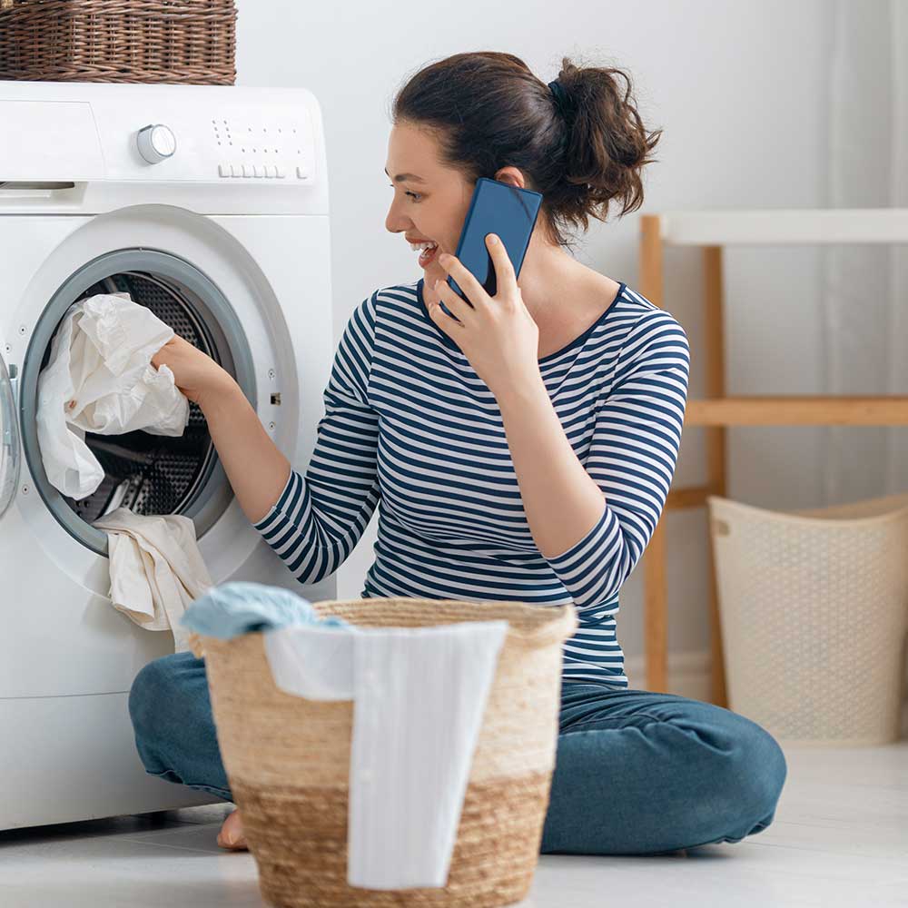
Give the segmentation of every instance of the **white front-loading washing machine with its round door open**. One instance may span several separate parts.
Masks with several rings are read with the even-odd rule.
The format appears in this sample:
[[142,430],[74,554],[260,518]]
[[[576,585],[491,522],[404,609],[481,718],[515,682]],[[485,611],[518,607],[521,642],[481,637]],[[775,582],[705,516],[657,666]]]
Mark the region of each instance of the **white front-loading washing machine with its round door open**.
[[[38,374],[65,311],[128,292],[221,363],[305,468],[331,369],[321,111],[303,89],[0,82],[0,829],[218,803],[144,772],[133,678],[173,652],[108,597],[113,503],[195,524],[215,583],[316,601],[233,497],[194,404],[180,438],[88,435],[88,498],[44,473]],[[255,469],[255,464],[250,464]]]

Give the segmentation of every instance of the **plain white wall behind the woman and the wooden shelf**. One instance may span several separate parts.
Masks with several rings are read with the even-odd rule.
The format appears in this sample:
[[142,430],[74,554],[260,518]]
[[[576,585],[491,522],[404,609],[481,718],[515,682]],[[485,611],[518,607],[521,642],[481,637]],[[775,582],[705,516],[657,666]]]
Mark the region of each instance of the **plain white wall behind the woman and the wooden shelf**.
[[[305,85],[320,98],[332,208],[336,335],[371,291],[416,280],[410,247],[386,232],[391,100],[422,64],[469,50],[521,56],[544,81],[562,55],[630,71],[646,124],[665,130],[646,176],[643,212],[677,208],[822,207],[825,197],[823,0],[461,0],[450,5],[348,0],[239,0],[239,84]],[[596,223],[578,257],[637,287],[639,214]],[[822,393],[819,258],[807,247],[726,254],[730,393]],[[693,347],[691,396],[702,396],[700,261],[668,250],[666,309]],[[292,305],[292,301],[288,301]],[[326,305],[328,301],[326,301]],[[854,393],[861,389],[855,389]],[[820,507],[822,429],[735,429],[729,495],[769,508]],[[702,432],[688,429],[676,487],[705,478]],[[706,513],[668,522],[672,650],[708,648]],[[341,568],[359,595],[375,521]],[[642,571],[621,595],[619,640],[642,652]],[[641,686],[642,676],[632,677]]]

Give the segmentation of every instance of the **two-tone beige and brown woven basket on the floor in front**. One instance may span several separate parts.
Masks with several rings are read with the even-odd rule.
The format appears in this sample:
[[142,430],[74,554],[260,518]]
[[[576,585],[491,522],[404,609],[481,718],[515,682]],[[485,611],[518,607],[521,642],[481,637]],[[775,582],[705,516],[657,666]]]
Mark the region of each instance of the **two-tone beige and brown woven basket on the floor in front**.
[[195,637],[233,799],[259,867],[262,896],[302,906],[505,905],[523,899],[538,863],[558,745],[562,645],[572,606],[369,598],[315,603],[362,627],[508,621],[479,731],[444,888],[373,890],[347,884],[352,701],[275,686],[261,633]]

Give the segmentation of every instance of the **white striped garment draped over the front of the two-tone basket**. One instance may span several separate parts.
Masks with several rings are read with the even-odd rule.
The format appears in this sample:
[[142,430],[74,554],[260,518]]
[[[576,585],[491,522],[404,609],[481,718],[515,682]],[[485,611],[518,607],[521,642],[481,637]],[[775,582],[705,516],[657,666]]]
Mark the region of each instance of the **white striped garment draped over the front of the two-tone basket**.
[[347,883],[441,887],[507,621],[282,627],[264,633],[286,693],[350,700]]

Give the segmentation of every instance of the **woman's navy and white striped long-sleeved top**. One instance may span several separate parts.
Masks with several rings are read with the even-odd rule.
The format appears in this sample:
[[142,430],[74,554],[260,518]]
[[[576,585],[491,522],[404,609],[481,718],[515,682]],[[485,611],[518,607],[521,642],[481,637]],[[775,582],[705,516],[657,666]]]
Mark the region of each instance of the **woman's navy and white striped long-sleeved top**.
[[350,318],[305,478],[255,528],[301,583],[341,566],[379,508],[363,597],[573,602],[565,681],[627,687],[618,590],[665,506],[690,350],[683,328],[621,284],[587,331],[539,360],[602,516],[543,558],[529,531],[495,400],[430,319],[422,281],[376,291]]

